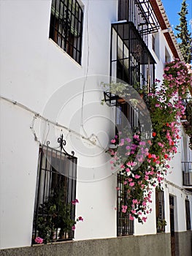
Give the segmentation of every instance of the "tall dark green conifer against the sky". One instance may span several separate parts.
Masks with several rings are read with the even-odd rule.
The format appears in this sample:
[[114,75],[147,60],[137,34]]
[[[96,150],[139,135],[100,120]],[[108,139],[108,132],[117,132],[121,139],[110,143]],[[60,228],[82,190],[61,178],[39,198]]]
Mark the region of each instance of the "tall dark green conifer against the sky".
[[180,15],[180,24],[175,27],[175,29],[178,31],[177,33],[177,39],[180,39],[181,42],[179,42],[180,50],[183,53],[183,58],[185,60],[185,63],[191,63],[192,60],[192,39],[191,39],[191,33],[188,31],[188,22],[186,19],[186,15],[188,15],[188,9],[186,1],[183,0],[182,7],[180,12],[178,12]]

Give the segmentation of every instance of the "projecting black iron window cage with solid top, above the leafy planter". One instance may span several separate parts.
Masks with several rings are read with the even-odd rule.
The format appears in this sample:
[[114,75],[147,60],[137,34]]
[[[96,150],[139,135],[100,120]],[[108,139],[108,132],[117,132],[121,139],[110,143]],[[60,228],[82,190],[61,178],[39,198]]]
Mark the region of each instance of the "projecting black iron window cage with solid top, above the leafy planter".
[[110,75],[139,93],[154,83],[155,60],[132,22],[112,23]]

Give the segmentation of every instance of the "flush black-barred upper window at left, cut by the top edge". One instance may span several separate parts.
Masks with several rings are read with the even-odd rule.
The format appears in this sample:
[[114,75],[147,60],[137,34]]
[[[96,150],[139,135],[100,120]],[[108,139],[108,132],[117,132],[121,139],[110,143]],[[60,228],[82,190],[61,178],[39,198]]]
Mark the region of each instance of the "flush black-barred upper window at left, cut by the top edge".
[[52,0],[50,38],[81,64],[82,7],[77,0]]

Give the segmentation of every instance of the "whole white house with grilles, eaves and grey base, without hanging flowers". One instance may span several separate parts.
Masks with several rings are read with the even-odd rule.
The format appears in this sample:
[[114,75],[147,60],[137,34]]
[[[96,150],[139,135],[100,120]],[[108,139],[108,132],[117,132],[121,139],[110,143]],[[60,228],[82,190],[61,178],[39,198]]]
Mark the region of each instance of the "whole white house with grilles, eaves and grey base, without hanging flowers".
[[[183,61],[161,1],[18,0],[0,7],[2,255],[190,256],[185,127],[143,224],[122,215],[120,176],[106,153],[115,127],[127,125],[118,113],[130,129],[139,122],[130,106],[117,98],[112,105],[103,83],[119,79],[150,90],[166,62]],[[37,237],[47,245],[37,246]]]

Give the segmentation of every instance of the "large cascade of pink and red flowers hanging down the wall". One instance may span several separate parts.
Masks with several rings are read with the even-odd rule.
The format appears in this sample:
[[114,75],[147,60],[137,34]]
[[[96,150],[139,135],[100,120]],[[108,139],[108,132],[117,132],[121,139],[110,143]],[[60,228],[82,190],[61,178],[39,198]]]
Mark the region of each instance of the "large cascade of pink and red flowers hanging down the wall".
[[[152,139],[145,140],[142,133],[118,132],[111,140],[115,149],[110,149],[112,170],[120,168],[122,175],[123,201],[121,211],[129,213],[129,219],[146,222],[153,187],[161,187],[169,170],[168,160],[177,153],[180,139],[180,116],[185,113],[183,99],[192,88],[192,75],[181,61],[174,60],[164,69],[164,80],[159,80],[147,99],[152,122]],[[117,187],[117,189],[120,189]]]

